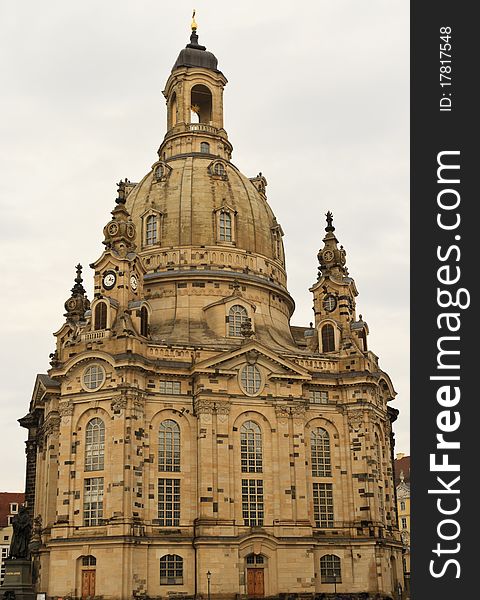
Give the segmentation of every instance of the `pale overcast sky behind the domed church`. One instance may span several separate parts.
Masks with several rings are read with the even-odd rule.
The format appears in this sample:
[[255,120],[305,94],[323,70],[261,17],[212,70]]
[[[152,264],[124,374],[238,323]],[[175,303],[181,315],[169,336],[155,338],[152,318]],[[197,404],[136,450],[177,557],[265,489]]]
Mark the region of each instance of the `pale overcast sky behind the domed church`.
[[405,0],[23,0],[0,4],[0,491],[23,489],[35,375],[115,183],[139,181],[166,126],[162,89],[190,34],[229,83],[233,162],[259,171],[285,232],[293,325],[313,320],[327,210],[409,451],[409,14]]

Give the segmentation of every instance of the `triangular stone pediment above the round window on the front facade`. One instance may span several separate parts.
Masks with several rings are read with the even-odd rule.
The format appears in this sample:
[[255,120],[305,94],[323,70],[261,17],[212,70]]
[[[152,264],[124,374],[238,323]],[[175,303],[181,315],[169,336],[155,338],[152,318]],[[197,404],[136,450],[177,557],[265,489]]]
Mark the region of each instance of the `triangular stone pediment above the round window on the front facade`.
[[270,379],[310,380],[311,374],[289,359],[279,356],[257,341],[248,342],[241,348],[222,352],[217,356],[196,363],[192,373],[236,374],[238,365],[258,363],[270,372]]

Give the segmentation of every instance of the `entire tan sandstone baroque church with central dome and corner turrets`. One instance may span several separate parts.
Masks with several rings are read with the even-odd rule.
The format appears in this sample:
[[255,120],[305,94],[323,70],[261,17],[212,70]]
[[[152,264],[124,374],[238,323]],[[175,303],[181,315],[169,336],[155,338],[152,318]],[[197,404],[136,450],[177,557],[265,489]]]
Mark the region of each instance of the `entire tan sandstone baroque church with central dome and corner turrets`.
[[231,160],[226,83],[194,21],[158,159],[118,184],[19,420],[48,599],[401,597],[395,391],[341,223],[311,257],[314,322],[290,325],[284,232]]

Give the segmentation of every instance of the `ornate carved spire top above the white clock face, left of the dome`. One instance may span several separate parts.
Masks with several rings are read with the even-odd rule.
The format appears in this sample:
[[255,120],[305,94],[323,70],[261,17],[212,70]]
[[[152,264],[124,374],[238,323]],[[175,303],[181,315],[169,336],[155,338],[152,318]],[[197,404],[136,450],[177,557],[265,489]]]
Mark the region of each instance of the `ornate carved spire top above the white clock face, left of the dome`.
[[135,225],[130,218],[130,213],[125,207],[126,186],[128,183],[130,182],[126,178],[124,181],[119,181],[119,183],[117,183],[116,206],[112,210],[113,219],[103,228],[103,233],[105,235],[103,243],[109,250],[113,250],[120,256],[126,256],[136,248]]

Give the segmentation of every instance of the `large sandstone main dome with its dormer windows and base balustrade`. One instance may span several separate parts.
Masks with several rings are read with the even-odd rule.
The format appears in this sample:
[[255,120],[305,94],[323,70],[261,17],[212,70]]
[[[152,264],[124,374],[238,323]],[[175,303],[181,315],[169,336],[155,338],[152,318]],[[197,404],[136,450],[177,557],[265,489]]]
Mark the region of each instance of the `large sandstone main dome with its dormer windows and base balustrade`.
[[126,202],[147,270],[233,270],[285,289],[282,232],[265,183],[214,155],[155,163]]

